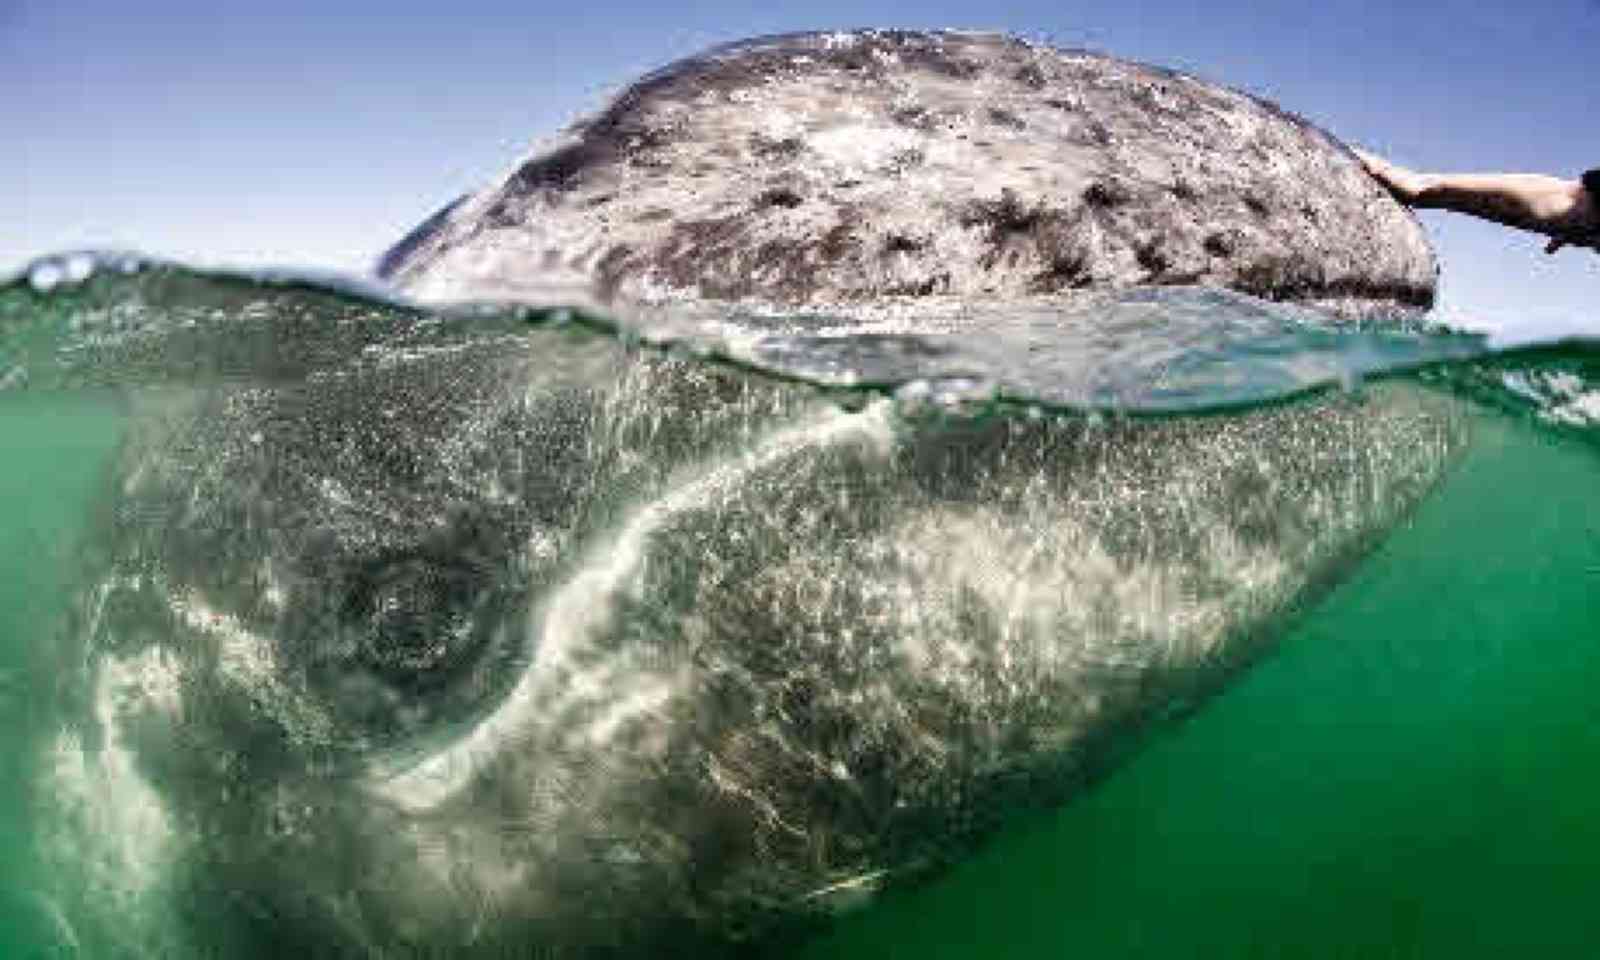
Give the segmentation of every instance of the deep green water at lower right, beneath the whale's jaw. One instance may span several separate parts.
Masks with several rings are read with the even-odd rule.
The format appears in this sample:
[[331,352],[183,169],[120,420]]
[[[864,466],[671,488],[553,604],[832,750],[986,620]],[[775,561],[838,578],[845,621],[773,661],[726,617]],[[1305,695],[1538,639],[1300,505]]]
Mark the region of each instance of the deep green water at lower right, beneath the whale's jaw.
[[1475,429],[1275,656],[805,955],[1595,955],[1600,456]]

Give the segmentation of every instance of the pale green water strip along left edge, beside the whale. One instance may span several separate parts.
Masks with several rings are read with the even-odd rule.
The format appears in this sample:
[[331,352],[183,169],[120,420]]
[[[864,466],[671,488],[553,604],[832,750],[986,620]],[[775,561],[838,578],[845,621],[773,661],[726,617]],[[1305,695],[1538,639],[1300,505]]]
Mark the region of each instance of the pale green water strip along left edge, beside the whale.
[[24,787],[51,691],[34,678],[66,608],[91,504],[122,438],[109,398],[0,397],[0,955],[53,955],[62,946],[50,907],[30,896],[35,845]]

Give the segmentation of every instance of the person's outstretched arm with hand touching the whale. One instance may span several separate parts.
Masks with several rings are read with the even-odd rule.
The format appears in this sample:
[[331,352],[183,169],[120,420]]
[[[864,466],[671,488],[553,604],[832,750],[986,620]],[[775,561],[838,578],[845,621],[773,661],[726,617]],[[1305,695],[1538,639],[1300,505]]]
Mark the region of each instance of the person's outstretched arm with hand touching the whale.
[[1600,197],[1582,181],[1536,173],[1418,173],[1363,150],[1355,155],[1406,206],[1454,210],[1507,227],[1544,234],[1546,253],[1600,250]]

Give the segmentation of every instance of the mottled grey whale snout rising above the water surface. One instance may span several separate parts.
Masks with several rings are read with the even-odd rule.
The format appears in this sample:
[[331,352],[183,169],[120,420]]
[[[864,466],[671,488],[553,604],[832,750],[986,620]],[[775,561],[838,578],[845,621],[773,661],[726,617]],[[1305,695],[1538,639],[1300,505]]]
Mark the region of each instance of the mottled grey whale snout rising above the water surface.
[[795,34],[650,74],[379,262],[426,299],[1014,299],[1219,285],[1414,314],[1416,219],[1312,123],[1003,35]]

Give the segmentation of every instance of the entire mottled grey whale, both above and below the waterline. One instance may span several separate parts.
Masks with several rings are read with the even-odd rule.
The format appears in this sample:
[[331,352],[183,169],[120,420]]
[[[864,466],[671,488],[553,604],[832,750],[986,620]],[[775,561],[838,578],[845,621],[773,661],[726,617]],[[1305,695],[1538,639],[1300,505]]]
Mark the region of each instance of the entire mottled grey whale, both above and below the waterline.
[[[1093,325],[1085,291],[1373,315],[1434,283],[1414,221],[1258,101],[890,32],[646,77],[384,274],[798,325],[834,341],[784,349],[862,382],[893,379],[862,344],[947,349],[848,333],[886,301],[986,341],[1043,310],[960,354],[981,379]],[[1211,293],[1136,298],[1110,354],[1040,370],[1181,370],[1248,310],[1290,317]],[[51,894],[85,944],[163,957],[699,955],[803,925],[1069,795],[1464,438],[1406,386],[946,416],[938,382],[840,406],[541,312],[158,269],[70,296],[62,362],[139,389],[62,653],[82,717],[46,758]]]

